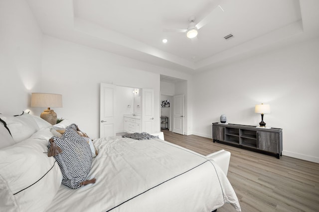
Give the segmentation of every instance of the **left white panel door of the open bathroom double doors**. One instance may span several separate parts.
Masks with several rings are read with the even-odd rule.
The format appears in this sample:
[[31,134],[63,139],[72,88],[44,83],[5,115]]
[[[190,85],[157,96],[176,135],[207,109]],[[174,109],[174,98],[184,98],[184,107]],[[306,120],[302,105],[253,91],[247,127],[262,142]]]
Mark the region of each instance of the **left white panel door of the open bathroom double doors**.
[[116,85],[101,83],[100,88],[100,138],[115,136],[114,97]]

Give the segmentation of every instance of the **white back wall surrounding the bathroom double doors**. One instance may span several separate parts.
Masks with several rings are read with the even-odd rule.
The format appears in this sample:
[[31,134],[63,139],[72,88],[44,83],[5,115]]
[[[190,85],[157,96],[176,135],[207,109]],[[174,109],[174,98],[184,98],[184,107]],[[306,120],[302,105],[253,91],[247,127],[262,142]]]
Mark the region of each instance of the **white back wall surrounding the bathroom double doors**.
[[[143,69],[131,68],[140,67]],[[160,74],[145,71],[152,65],[83,45],[43,37],[41,92],[60,93],[58,117],[70,119],[92,137],[99,137],[100,83],[152,88],[160,102]],[[132,92],[133,93],[133,92]],[[155,128],[160,131],[160,105],[155,105]]]

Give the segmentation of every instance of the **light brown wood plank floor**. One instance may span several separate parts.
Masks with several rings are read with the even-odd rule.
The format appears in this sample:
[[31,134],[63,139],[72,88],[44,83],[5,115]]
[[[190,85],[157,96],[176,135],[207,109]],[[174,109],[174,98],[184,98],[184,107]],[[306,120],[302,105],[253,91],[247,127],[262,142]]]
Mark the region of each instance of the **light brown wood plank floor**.
[[[199,136],[162,130],[165,141],[203,155],[225,149],[231,152],[227,177],[242,212],[319,212],[319,164],[288,156],[253,152]],[[235,212],[225,204],[217,212]]]

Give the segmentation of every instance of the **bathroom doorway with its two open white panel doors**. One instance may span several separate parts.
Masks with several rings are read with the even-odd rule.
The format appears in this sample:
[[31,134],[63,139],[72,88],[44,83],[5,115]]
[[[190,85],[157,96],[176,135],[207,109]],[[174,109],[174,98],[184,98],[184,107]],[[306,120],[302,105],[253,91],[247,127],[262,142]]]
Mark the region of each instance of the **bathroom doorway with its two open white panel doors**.
[[100,138],[125,131],[124,116],[133,116],[142,123],[139,131],[154,133],[154,90],[101,83]]

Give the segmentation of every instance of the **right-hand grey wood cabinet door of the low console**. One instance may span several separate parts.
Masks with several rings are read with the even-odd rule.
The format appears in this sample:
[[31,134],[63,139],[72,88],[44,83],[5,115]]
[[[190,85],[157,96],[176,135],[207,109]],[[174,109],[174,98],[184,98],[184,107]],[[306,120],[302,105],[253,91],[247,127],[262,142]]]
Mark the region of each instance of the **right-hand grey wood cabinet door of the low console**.
[[258,149],[262,149],[269,152],[279,152],[279,134],[270,132],[258,132]]

